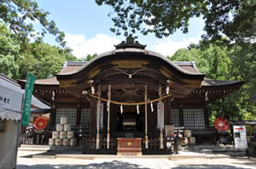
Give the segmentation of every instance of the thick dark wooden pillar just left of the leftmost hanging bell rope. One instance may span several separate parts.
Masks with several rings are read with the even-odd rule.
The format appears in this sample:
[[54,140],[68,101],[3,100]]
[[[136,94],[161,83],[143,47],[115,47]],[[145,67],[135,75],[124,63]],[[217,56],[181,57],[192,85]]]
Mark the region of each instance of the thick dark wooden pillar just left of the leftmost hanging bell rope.
[[96,138],[96,99],[90,97],[90,138]]

